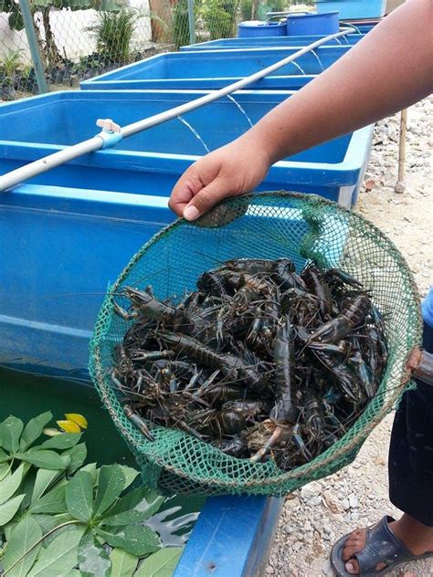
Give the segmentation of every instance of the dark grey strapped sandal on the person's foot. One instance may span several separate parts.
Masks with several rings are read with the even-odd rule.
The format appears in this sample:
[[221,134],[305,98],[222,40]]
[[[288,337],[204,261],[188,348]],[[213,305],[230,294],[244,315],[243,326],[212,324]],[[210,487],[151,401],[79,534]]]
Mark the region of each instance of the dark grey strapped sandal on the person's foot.
[[[388,523],[394,520],[389,515],[385,515],[384,519],[367,528],[363,551],[352,556],[352,559],[358,561],[360,577],[378,577],[390,572],[400,563],[433,557],[433,552],[414,555],[409,551],[406,545],[397,539],[388,527]],[[346,572],[345,564],[347,561],[343,561],[342,557],[344,543],[350,534],[347,533],[339,539],[331,551],[331,565],[337,577],[354,577],[353,573]],[[375,571],[379,563],[386,563],[386,567],[380,571]]]

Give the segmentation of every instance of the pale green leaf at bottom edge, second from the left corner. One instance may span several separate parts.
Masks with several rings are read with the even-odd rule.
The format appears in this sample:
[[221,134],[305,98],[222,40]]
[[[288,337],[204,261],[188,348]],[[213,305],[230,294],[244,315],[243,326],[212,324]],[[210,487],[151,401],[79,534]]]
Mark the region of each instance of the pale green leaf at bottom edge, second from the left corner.
[[81,535],[82,530],[70,530],[58,535],[49,543],[47,549],[40,551],[39,558],[28,573],[28,577],[58,577],[59,574],[73,569],[78,562]]

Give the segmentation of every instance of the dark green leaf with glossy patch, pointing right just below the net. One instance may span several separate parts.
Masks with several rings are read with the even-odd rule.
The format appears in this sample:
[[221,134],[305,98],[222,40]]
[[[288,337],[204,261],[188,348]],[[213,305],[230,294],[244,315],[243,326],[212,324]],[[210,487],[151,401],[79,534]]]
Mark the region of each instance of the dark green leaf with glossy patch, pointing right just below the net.
[[108,511],[101,524],[108,526],[130,525],[149,519],[163,505],[165,498],[148,488],[136,488],[119,499]]

